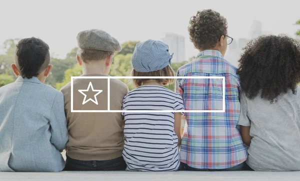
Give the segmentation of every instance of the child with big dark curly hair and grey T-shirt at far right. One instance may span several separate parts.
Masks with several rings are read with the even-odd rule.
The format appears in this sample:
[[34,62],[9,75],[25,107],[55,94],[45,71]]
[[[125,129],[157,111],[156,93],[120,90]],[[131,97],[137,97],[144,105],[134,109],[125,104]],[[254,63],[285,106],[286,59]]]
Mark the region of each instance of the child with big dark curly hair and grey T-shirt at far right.
[[[300,170],[300,43],[286,35],[250,41],[239,59],[241,137],[246,166]],[[255,71],[253,71],[255,70]]]

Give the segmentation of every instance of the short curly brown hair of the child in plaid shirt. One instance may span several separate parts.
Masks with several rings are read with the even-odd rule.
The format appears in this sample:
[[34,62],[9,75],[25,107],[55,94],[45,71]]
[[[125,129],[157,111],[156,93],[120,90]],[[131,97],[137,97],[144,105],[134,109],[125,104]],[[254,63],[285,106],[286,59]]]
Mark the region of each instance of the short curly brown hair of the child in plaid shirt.
[[198,11],[189,20],[188,33],[197,49],[212,48],[222,35],[227,34],[227,20],[211,9]]

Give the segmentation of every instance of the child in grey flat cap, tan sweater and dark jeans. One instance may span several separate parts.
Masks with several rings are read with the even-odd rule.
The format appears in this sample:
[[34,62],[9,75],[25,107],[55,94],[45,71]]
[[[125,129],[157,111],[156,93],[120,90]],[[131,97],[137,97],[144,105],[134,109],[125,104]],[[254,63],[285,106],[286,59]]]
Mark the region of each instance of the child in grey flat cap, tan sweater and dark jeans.
[[[114,52],[121,50],[115,38],[98,29],[79,32],[77,44],[77,61],[83,73],[81,76],[107,76]],[[124,170],[126,164],[122,158],[124,134],[121,114],[71,112],[70,82],[61,88],[61,92],[64,95],[69,132],[65,170]],[[127,92],[128,87],[123,82],[110,79],[109,108],[120,110]],[[107,79],[74,79],[73,109],[107,110]]]

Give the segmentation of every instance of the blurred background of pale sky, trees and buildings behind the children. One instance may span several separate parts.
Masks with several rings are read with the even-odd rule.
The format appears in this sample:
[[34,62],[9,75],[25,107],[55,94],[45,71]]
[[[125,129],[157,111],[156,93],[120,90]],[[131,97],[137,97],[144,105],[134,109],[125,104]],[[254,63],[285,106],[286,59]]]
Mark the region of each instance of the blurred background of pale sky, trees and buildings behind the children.
[[113,58],[111,76],[130,75],[134,46],[146,39],[169,45],[176,71],[197,55],[187,26],[191,16],[206,8],[227,18],[233,42],[225,58],[235,66],[252,38],[281,33],[300,38],[300,0],[0,0],[0,86],[16,78],[10,69],[15,44],[34,36],[50,46],[53,69],[46,84],[59,90],[70,76],[81,74],[76,35],[90,28],[105,30],[122,44]]

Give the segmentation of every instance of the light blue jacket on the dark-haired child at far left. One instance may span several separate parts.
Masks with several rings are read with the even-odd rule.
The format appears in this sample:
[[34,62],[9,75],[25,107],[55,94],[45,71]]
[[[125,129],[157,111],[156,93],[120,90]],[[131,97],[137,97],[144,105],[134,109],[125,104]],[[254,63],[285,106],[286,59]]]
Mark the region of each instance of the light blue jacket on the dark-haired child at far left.
[[0,87],[0,171],[61,171],[63,95],[36,77]]

